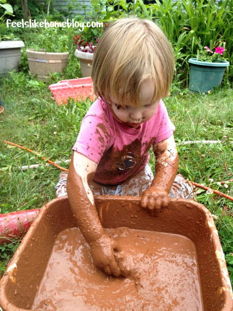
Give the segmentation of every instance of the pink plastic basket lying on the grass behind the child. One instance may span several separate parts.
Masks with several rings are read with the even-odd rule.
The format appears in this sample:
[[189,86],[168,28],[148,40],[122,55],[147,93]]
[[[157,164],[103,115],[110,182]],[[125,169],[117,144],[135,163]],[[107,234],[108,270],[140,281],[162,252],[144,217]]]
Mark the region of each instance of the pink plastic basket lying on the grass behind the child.
[[93,93],[93,83],[91,77],[62,80],[49,86],[58,105],[67,104],[69,98],[84,100],[87,97],[91,101],[96,99]]

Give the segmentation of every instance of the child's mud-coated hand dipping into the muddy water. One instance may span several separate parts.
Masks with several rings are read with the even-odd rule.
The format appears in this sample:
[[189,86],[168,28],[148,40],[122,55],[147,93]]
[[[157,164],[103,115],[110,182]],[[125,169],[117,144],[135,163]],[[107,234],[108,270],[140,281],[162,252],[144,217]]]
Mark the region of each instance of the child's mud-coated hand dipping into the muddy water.
[[119,250],[112,239],[107,235],[103,235],[100,239],[91,242],[89,245],[92,259],[101,270],[107,275],[121,275],[114,256],[115,252]]

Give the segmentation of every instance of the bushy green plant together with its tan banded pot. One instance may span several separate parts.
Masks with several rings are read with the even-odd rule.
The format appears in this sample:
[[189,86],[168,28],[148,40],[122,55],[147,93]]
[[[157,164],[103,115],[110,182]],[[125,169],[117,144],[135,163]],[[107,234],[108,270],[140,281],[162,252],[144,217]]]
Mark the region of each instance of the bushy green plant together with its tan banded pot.
[[47,81],[50,73],[62,72],[67,67],[68,36],[58,28],[40,29],[26,50],[29,70],[40,81]]

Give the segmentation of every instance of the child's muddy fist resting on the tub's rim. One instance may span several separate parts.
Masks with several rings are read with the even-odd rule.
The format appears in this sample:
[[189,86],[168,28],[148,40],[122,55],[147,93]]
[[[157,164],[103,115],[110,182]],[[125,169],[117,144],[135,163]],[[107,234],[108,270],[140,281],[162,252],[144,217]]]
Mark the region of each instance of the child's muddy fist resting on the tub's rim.
[[170,197],[167,191],[159,186],[151,186],[142,193],[141,206],[149,210],[159,210],[161,207],[167,207]]

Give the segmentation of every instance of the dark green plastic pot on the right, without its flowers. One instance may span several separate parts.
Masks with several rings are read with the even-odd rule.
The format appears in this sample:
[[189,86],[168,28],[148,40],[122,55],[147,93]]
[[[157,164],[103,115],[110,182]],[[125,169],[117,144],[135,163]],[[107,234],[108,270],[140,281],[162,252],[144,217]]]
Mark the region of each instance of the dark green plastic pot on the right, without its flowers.
[[220,86],[223,74],[229,62],[222,60],[218,63],[201,62],[197,58],[190,58],[189,90],[198,93],[208,93],[216,86]]

